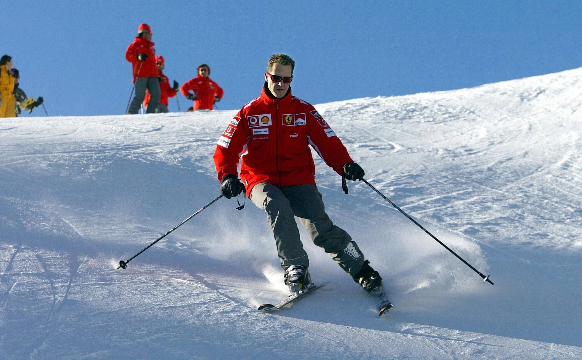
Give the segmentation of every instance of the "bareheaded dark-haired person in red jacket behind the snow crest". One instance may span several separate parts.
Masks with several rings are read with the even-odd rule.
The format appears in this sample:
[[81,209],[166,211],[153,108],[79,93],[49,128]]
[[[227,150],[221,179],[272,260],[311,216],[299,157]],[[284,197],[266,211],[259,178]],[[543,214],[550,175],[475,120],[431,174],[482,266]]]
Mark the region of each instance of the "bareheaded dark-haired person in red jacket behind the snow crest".
[[221,101],[224,94],[222,88],[208,75],[210,75],[210,67],[206,64],[198,65],[198,76],[188,80],[180,88],[187,99],[194,100],[194,111],[214,109],[214,103]]

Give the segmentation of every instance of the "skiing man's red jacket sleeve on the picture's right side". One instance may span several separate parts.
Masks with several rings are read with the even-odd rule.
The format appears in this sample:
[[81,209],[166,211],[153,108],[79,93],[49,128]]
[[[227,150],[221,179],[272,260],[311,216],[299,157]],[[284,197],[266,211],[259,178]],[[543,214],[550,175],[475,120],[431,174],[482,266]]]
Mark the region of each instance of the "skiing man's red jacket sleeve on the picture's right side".
[[353,162],[346,147],[313,106],[307,114],[307,138],[311,147],[324,159],[336,173],[343,174],[343,166]]

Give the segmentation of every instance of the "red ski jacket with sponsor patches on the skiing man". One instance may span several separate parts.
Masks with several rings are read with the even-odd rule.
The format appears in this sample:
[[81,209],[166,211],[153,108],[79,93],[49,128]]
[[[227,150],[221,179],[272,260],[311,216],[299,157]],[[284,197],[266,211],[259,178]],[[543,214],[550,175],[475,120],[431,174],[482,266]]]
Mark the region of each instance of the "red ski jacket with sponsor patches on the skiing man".
[[237,174],[247,196],[255,184],[276,186],[315,184],[315,164],[309,145],[338,174],[352,158],[342,141],[313,105],[293,97],[272,97],[267,83],[261,96],[244,105],[218,140],[214,163],[218,180]]

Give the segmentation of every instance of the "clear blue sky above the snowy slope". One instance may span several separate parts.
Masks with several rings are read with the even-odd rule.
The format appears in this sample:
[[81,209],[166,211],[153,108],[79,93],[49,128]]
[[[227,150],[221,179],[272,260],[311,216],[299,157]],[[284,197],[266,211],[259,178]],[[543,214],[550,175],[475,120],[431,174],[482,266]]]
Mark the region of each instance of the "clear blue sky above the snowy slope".
[[[225,90],[219,109],[258,95],[275,52],[296,60],[293,94],[312,104],[582,66],[578,1],[3,3],[0,53],[13,56],[21,87],[44,97],[51,116],[125,112],[132,91],[125,50],[143,22],[171,81],[210,65]],[[178,96],[182,111],[191,106]],[[174,98],[169,109],[178,110]]]

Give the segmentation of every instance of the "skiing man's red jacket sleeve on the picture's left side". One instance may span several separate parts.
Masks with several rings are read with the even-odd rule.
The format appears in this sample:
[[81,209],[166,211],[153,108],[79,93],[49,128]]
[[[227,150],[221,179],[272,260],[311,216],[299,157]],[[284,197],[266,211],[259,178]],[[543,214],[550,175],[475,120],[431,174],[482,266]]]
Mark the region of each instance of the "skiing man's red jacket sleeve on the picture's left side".
[[214,151],[214,165],[217,169],[218,181],[226,174],[238,175],[240,155],[249,142],[250,131],[247,123],[240,121],[243,111],[239,111],[222,133]]

